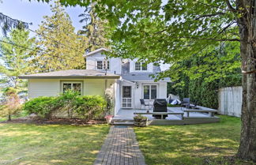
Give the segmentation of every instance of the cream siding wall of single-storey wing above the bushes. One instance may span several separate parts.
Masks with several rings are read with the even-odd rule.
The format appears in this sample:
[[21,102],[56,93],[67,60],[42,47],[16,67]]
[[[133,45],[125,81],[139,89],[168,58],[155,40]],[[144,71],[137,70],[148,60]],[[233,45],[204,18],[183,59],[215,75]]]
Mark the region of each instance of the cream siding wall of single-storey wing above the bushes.
[[[28,98],[39,96],[58,96],[62,92],[62,81],[82,81],[83,95],[100,95],[104,96],[105,80],[104,79],[31,79],[28,81]],[[107,88],[114,84],[115,80],[107,80]]]

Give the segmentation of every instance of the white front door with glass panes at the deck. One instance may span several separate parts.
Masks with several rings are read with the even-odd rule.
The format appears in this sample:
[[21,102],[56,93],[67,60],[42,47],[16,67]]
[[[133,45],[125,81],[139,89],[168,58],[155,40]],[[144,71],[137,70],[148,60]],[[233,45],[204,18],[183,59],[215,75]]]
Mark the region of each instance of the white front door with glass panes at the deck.
[[122,108],[132,108],[132,88],[122,86]]

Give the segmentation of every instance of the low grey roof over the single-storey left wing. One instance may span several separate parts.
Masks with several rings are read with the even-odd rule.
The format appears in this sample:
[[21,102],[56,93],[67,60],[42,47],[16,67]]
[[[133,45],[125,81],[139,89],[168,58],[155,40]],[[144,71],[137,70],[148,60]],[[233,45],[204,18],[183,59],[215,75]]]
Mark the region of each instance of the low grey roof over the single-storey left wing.
[[36,73],[30,75],[21,75],[21,79],[56,79],[56,78],[108,78],[108,79],[119,79],[119,75],[93,70],[93,69],[70,69],[70,70],[61,70],[48,73]]

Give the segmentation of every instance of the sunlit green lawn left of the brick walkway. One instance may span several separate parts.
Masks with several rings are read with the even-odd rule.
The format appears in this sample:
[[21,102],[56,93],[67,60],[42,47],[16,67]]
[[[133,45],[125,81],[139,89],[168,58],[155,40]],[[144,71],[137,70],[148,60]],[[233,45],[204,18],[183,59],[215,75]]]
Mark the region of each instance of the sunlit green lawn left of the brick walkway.
[[108,129],[0,124],[0,164],[92,164]]

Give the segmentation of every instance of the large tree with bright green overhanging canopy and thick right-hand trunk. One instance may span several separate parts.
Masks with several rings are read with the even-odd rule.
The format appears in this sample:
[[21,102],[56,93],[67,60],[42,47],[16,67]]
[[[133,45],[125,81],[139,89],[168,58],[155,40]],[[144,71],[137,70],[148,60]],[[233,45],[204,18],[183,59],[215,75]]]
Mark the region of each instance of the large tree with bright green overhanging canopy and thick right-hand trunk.
[[[90,2],[62,0],[70,6],[88,6]],[[97,1],[96,13],[110,22],[115,55],[125,58],[173,64],[193,54],[204,54],[220,42],[239,42],[243,106],[238,156],[256,162],[255,3],[248,0]]]

